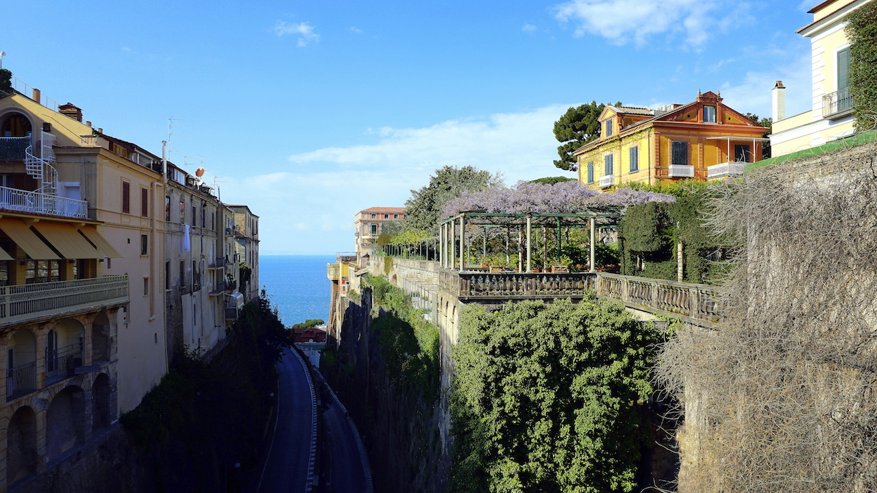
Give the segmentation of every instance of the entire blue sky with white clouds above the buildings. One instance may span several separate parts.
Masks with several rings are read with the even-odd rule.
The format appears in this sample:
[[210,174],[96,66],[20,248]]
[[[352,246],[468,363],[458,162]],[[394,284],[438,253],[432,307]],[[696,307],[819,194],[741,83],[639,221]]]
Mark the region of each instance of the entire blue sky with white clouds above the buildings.
[[[4,7],[3,67],[120,139],[207,168],[260,216],[262,254],[353,250],[353,216],[445,165],[508,184],[554,168],[569,106],[809,104],[816,0],[436,4],[48,0]],[[124,5],[124,8],[121,7]],[[188,156],[188,158],[186,157]]]

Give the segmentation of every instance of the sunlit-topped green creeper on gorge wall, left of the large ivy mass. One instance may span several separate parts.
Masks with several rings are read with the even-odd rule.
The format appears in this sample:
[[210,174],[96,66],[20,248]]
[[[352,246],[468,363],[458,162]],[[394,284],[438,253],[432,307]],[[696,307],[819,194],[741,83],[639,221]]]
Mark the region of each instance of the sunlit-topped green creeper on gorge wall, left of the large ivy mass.
[[411,298],[381,276],[369,275],[374,305],[389,316],[372,320],[390,382],[400,389],[422,392],[427,403],[439,397],[439,329],[427,322]]

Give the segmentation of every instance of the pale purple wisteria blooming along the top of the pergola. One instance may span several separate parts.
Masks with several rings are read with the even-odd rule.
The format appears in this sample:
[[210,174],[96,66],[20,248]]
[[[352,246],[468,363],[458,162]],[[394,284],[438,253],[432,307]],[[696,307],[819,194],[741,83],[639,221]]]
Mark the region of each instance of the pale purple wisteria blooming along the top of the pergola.
[[441,218],[451,218],[468,211],[485,211],[505,214],[577,214],[593,207],[629,207],[646,202],[675,202],[674,196],[635,190],[617,189],[615,193],[603,193],[588,189],[580,182],[560,182],[553,185],[517,182],[510,189],[488,189],[464,193],[449,201],[442,209]]

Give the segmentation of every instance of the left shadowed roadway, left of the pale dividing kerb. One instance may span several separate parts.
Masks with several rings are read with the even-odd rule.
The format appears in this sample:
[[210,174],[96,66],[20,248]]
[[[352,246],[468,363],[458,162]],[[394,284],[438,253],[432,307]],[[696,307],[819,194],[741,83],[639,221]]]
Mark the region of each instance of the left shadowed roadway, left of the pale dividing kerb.
[[310,387],[296,354],[287,350],[277,363],[279,390],[276,428],[271,439],[258,493],[303,493],[310,458],[313,407]]

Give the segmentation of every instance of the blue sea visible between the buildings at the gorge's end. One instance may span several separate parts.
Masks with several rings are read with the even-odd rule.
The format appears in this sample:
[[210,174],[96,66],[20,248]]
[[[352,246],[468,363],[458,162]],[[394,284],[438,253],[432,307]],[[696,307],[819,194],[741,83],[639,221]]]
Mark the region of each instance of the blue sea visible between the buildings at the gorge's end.
[[283,325],[310,318],[329,321],[331,282],[326,264],[335,255],[260,255],[259,283]]

